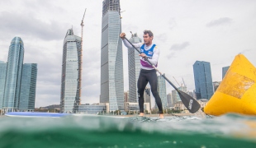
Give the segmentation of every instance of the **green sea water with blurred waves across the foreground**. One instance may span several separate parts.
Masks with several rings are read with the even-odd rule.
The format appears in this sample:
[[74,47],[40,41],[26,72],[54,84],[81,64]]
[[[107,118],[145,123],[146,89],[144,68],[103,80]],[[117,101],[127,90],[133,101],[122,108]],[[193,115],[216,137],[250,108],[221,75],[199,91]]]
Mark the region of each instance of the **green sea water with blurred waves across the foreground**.
[[256,117],[1,117],[2,147],[256,147]]

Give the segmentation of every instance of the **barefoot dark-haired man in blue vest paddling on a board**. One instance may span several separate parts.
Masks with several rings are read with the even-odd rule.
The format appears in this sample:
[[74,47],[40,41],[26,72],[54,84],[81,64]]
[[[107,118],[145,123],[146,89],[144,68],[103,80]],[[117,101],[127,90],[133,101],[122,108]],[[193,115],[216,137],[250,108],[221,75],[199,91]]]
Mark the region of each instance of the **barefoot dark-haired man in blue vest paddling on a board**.
[[[129,49],[133,48],[133,46],[125,39],[126,37],[125,33],[121,33],[120,37],[127,48]],[[157,81],[156,71],[154,67],[152,67],[149,64],[149,62],[151,62],[155,67],[157,67],[160,50],[155,44],[152,43],[152,40],[154,39],[154,35],[150,30],[144,30],[143,39],[144,39],[144,44],[142,43],[133,44],[135,48],[140,49],[140,53],[141,53],[139,54],[140,76],[137,82],[138,95],[139,95],[139,107],[140,107],[139,116],[144,116],[144,91],[145,91],[145,87],[149,82],[151,92],[154,95],[155,102],[159,108],[159,118],[164,118],[162,101],[157,91],[158,81]],[[145,58],[148,58],[149,62],[147,62]]]

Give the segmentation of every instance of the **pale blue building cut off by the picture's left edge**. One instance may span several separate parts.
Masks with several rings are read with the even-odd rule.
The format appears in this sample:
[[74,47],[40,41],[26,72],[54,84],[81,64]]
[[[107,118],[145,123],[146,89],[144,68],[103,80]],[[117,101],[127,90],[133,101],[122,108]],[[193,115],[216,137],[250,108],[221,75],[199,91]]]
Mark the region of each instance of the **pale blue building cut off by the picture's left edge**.
[[6,76],[7,76],[7,62],[0,61],[0,109],[2,109],[2,105],[3,105]]

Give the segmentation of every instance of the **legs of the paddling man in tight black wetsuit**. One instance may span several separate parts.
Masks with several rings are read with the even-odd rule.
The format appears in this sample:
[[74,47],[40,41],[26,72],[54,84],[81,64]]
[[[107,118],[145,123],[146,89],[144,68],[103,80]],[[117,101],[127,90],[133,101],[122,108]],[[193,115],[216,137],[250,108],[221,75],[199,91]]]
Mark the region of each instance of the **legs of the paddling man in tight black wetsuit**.
[[155,102],[159,107],[159,113],[163,113],[163,105],[158,93],[158,81],[156,71],[140,69],[140,76],[138,79],[138,95],[139,95],[139,107],[140,113],[144,113],[144,91],[148,82],[151,87],[151,92],[154,96]]

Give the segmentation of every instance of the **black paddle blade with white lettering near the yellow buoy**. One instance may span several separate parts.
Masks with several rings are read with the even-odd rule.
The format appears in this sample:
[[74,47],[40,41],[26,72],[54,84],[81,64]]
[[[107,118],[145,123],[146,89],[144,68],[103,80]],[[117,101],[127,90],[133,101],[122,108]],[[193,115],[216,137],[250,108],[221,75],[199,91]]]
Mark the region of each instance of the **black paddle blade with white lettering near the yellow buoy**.
[[178,90],[178,95],[182,99],[183,104],[190,113],[196,113],[197,110],[200,109],[200,104],[192,96],[188,95],[187,93],[184,93],[181,90]]

